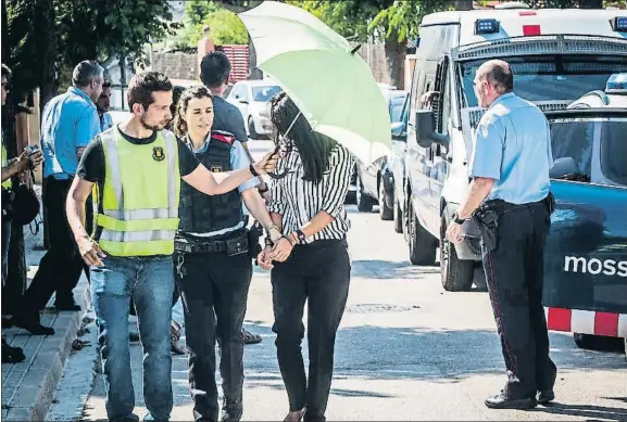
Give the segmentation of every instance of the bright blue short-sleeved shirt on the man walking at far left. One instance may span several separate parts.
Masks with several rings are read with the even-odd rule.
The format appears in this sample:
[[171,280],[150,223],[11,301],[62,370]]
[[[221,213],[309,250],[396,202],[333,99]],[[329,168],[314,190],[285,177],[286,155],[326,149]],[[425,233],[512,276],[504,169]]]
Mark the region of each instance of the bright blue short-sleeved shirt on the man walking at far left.
[[50,100],[41,119],[43,177],[73,177],[78,166],[76,149],[87,146],[100,131],[96,104],[83,90],[70,87]]

